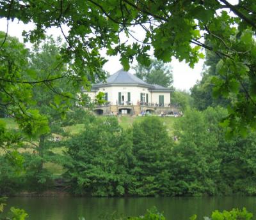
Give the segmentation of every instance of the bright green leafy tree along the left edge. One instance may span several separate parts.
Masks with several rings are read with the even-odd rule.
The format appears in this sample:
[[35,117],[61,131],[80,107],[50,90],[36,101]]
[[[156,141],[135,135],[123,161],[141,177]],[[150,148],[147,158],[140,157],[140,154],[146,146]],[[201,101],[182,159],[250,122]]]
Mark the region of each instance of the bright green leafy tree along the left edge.
[[[5,34],[0,32],[0,38]],[[11,164],[22,168],[24,159],[17,149],[24,136],[42,135],[49,131],[47,118],[33,105],[32,85],[24,83],[28,75],[29,51],[16,38],[7,37],[0,50],[0,108],[9,117],[14,117],[20,130],[6,129],[0,119],[0,148]],[[10,162],[10,161],[9,161]]]

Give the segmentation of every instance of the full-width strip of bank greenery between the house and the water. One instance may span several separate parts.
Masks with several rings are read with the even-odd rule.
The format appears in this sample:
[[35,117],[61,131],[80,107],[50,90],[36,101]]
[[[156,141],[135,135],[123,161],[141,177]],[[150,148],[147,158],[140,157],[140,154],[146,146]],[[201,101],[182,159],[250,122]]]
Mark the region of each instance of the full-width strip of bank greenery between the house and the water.
[[219,123],[225,108],[188,109],[172,128],[165,118],[150,116],[124,129],[117,117],[79,112],[83,126],[75,124],[72,132],[77,121],[70,114],[62,135],[47,140],[44,154],[31,145],[20,150],[21,171],[2,154],[1,194],[46,189],[90,196],[256,194],[256,134],[227,138]]

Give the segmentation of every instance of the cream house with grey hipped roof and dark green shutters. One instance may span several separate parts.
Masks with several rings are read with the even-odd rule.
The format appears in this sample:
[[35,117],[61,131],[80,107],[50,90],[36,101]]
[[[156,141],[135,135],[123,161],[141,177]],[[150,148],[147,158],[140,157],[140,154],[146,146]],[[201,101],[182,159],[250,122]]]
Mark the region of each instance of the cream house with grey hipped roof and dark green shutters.
[[[104,92],[106,103],[95,107],[97,114],[131,114],[142,112],[171,114],[178,111],[171,105],[172,89],[161,85],[147,84],[131,73],[119,70],[92,86],[91,91],[83,91],[95,100],[99,92]],[[174,109],[175,108],[175,109]],[[174,111],[174,112],[173,112]]]

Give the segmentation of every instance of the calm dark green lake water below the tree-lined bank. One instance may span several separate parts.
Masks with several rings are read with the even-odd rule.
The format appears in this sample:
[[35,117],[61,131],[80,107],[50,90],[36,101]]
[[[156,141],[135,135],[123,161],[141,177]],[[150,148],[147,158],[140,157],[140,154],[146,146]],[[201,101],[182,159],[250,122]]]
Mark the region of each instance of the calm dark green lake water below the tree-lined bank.
[[117,212],[127,216],[138,216],[156,206],[164,212],[166,219],[189,220],[196,214],[199,219],[210,216],[212,210],[243,208],[256,216],[256,197],[175,197],[175,198],[9,198],[8,206],[25,209],[30,220],[97,220],[100,214]]

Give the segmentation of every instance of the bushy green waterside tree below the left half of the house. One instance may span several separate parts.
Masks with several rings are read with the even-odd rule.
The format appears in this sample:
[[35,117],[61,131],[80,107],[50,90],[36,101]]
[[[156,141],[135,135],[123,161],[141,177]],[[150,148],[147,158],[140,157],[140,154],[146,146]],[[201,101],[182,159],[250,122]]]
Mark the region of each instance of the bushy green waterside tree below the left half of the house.
[[[122,129],[116,118],[97,118],[85,124],[84,131],[67,142],[67,173],[72,191],[77,194],[113,196],[124,194],[116,173],[115,154]],[[123,178],[120,178],[121,182]]]

